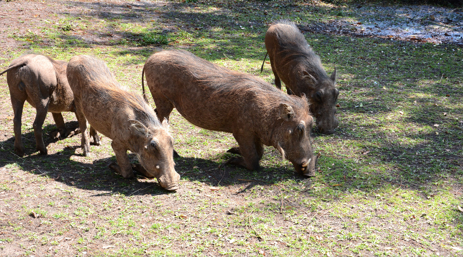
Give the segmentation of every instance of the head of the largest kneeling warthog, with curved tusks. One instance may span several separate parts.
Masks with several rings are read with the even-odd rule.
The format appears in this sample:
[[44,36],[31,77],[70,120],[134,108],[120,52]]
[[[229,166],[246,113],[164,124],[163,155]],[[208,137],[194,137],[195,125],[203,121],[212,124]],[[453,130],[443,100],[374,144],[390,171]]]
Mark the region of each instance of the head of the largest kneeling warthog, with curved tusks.
[[[305,97],[303,97],[305,100]],[[294,169],[303,176],[315,176],[315,166],[319,155],[313,155],[310,131],[313,118],[308,110],[295,113],[293,107],[280,103],[280,116],[276,148],[283,158],[293,163]]]

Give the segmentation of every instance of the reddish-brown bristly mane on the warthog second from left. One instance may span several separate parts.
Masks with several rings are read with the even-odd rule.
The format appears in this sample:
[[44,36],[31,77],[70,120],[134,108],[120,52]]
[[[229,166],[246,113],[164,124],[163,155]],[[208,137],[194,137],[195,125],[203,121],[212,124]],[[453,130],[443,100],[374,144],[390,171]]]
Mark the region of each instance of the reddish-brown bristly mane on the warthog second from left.
[[103,61],[96,57],[86,58],[86,62],[81,65],[87,66],[80,68],[81,74],[98,93],[102,94],[103,104],[108,101],[126,103],[137,111],[136,115],[140,115],[137,119],[147,122],[147,126],[162,126],[156,113],[143,97],[122,87]]

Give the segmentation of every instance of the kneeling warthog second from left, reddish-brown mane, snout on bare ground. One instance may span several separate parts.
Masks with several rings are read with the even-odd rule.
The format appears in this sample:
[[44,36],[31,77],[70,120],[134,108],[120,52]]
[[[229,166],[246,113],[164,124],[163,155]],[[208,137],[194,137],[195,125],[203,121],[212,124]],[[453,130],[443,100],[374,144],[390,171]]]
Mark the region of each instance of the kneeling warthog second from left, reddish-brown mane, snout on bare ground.
[[[92,56],[74,56],[67,69],[74,92],[75,115],[82,132],[82,150],[89,156],[87,123],[108,138],[117,163],[109,164],[124,178],[132,169],[145,177],[156,177],[161,187],[178,189],[180,175],[175,172],[174,138],[167,121],[161,123],[153,109],[138,94],[122,88],[106,64]],[[131,165],[127,150],[136,153],[141,165]]]

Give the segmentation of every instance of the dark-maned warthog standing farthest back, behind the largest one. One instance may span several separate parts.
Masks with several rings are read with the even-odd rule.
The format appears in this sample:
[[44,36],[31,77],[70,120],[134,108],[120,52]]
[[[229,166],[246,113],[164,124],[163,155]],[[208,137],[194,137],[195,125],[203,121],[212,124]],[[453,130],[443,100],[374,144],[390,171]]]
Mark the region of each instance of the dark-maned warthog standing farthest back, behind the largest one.
[[336,68],[331,77],[326,75],[320,57],[313,52],[293,22],[277,21],[271,25],[265,34],[265,47],[275,75],[275,85],[281,89],[282,80],[288,94],[305,94],[310,99],[310,111],[319,130],[324,134],[334,133],[338,127],[338,119],[334,117],[339,94],[335,87]]

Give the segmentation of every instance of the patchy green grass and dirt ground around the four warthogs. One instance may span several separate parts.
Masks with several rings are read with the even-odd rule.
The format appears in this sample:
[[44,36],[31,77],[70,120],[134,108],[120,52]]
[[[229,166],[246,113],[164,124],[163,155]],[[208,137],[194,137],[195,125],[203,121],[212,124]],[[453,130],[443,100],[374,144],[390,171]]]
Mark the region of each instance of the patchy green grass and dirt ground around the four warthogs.
[[[57,10],[40,16],[48,23],[31,31],[6,29],[8,40],[22,49],[2,48],[2,67],[26,50],[63,60],[91,54],[137,92],[145,60],[160,49],[186,49],[273,83],[269,63],[259,74],[267,23],[287,18],[309,31],[310,24],[349,12],[349,6],[337,10],[334,4],[299,1],[48,4]],[[80,135],[51,140],[45,134],[55,127],[50,115],[44,124],[49,155],[39,156],[35,109],[29,104],[22,125],[28,155],[19,158],[13,154],[13,113],[1,76],[0,252],[461,255],[461,46],[321,32],[305,36],[328,72],[338,70],[340,125],[331,136],[314,129],[313,148],[322,157],[313,178],[295,174],[272,148],[265,149],[258,171],[219,170],[232,156],[225,150],[236,145],[233,137],[195,127],[176,111],[170,131],[181,155],[175,160],[181,188],[175,193],[163,191],[155,180],[124,180],[108,169],[115,161],[108,138],[92,145],[87,158]],[[74,113],[63,114],[65,121],[75,121]],[[34,218],[32,211],[41,216]]]

